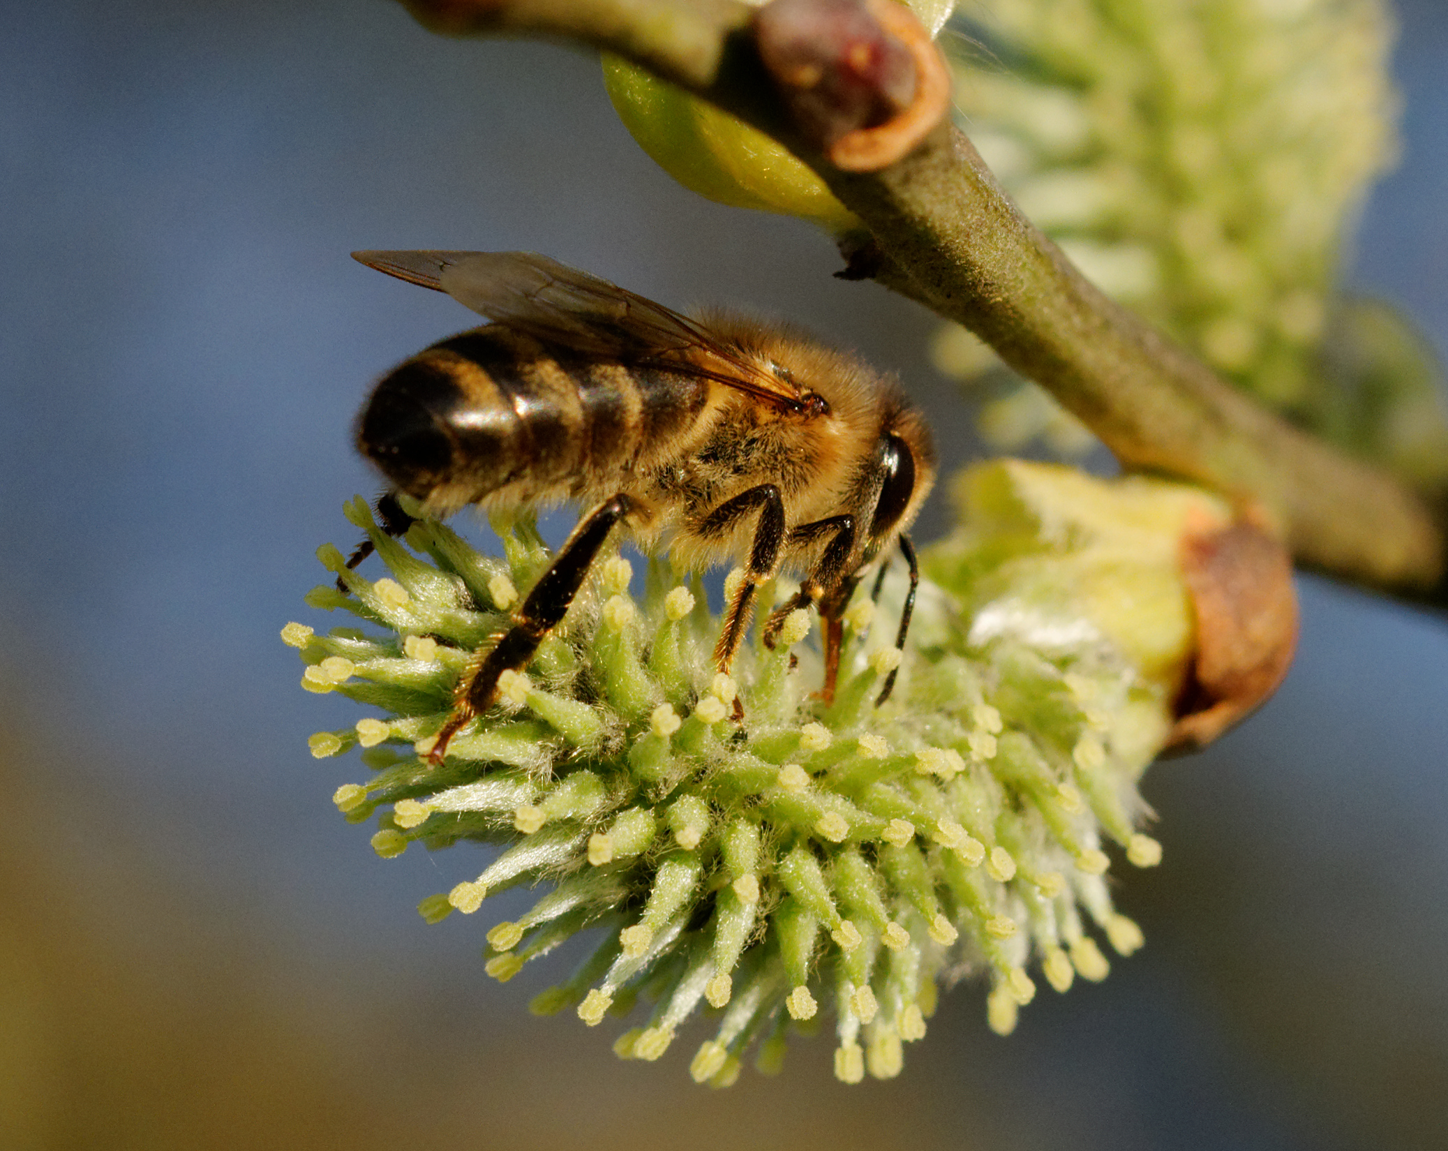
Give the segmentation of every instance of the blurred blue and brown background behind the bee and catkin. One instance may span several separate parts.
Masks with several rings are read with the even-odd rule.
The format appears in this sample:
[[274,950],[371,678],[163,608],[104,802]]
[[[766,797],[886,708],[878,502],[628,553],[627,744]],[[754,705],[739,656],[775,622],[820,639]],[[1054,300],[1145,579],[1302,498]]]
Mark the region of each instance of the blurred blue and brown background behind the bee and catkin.
[[[1406,151],[1348,279],[1448,349],[1448,9],[1402,4]],[[500,987],[487,922],[378,860],[277,638],[372,492],[368,382],[469,326],[355,248],[533,249],[673,305],[785,314],[898,369],[976,450],[931,317],[804,224],[637,151],[597,64],[384,0],[0,3],[0,1147],[1448,1145],[1448,627],[1302,579],[1279,696],[1147,779],[1148,947],[1009,1040],[944,999],[893,1083],[827,1041],[694,1087]],[[941,501],[918,530],[944,523]],[[505,914],[505,908],[501,909]],[[542,966],[542,964],[540,964]],[[524,986],[520,986],[524,985]]]

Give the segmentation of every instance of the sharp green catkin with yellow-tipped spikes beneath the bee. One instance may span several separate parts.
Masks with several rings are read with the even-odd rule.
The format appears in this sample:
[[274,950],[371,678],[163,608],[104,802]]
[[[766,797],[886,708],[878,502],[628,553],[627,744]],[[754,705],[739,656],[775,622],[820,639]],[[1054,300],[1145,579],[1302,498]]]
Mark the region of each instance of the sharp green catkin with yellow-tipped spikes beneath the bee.
[[[374,534],[365,505],[349,517]],[[689,1064],[712,1086],[731,1083],[754,1047],[756,1066],[776,1071],[788,1034],[812,1034],[834,1012],[835,1068],[857,1082],[899,1073],[943,971],[989,973],[988,1016],[1003,1028],[1030,998],[1027,964],[1060,989],[1105,974],[1092,932],[1122,954],[1140,945],[1111,903],[1099,843],[1121,843],[1137,866],[1160,854],[1135,828],[1135,782],[1167,730],[1167,686],[1079,627],[1087,640],[1076,647],[972,638],[927,582],[912,636],[930,643],[905,650],[895,693],[876,708],[902,573],[886,581],[873,627],[866,611],[850,617],[840,692],[824,707],[812,695],[812,617],[776,650],[759,643],[756,620],[721,678],[720,621],[698,578],[654,557],[636,599],[628,565],[604,557],[552,650],[429,764],[475,646],[547,562],[526,520],[502,527],[502,560],[429,520],[403,541],[376,533],[388,575],[345,570],[345,596],[310,596],[361,627],[290,624],[282,638],[308,689],[368,705],[355,727],[317,733],[311,750],[362,749],[371,772],[334,801],[350,821],[376,821],[378,854],[502,847],[476,879],[424,899],[429,921],[476,922],[494,892],[543,883],[515,921],[482,927],[500,980],[599,932],[534,1012],[568,1009],[592,1026],[653,1003],[617,1042],[653,1060],[689,1016],[720,1009]],[[922,560],[979,618],[1011,602],[988,588],[1002,555],[986,533]],[[323,559],[340,568],[337,549]],[[762,589],[759,618],[773,595]]]

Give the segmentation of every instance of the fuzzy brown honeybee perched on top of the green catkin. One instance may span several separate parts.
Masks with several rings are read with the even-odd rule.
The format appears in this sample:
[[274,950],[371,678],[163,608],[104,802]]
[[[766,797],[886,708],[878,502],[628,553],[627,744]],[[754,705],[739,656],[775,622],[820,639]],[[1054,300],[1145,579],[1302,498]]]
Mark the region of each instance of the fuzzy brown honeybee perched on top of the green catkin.
[[[727,313],[689,319],[529,252],[356,252],[369,268],[443,291],[491,323],[433,345],[374,388],[356,443],[429,515],[468,504],[578,504],[585,514],[459,685],[430,759],[495,696],[562,621],[604,543],[623,527],[686,568],[744,570],[714,650],[728,672],[760,583],[799,591],[765,621],[814,605],[833,699],[841,614],[866,569],[896,544],[935,475],[931,436],[899,385],[802,333]],[[384,524],[408,518],[384,497]],[[366,555],[359,549],[355,562]],[[880,568],[883,576],[883,563]],[[879,579],[876,581],[879,594]],[[891,673],[877,702],[893,686]],[[736,720],[741,712],[736,709]]]

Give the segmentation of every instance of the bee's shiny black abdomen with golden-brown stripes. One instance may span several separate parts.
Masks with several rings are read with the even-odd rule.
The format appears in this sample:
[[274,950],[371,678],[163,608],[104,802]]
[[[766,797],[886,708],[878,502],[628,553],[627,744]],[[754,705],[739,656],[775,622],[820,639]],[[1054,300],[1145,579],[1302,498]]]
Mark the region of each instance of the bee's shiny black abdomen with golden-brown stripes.
[[707,400],[698,379],[599,363],[489,326],[384,376],[358,421],[358,447],[440,513],[504,486],[520,501],[566,497],[628,476]]

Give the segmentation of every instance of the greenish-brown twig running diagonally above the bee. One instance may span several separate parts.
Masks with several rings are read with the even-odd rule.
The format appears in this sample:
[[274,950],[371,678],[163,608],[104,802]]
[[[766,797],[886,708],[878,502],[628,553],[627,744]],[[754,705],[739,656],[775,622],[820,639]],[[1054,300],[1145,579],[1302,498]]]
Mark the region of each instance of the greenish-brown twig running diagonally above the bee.
[[1079,416],[1125,468],[1206,484],[1263,508],[1302,563],[1432,595],[1436,508],[1221,381],[1089,284],[941,123],[877,172],[843,172],[791,123],[760,64],[754,9],[736,0],[404,0],[449,33],[589,43],[766,132],[866,226],[851,266],[964,324]]

